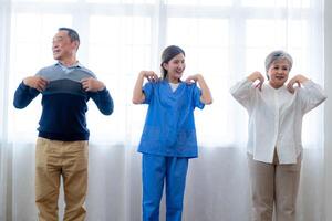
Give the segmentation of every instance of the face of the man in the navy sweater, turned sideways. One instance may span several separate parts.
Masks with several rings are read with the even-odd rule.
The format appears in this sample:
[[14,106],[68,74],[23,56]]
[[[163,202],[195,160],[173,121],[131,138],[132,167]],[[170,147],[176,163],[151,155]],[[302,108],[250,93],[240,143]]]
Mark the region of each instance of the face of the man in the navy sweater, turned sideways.
[[53,59],[65,61],[75,57],[79,48],[77,41],[71,41],[68,31],[59,31],[52,42]]

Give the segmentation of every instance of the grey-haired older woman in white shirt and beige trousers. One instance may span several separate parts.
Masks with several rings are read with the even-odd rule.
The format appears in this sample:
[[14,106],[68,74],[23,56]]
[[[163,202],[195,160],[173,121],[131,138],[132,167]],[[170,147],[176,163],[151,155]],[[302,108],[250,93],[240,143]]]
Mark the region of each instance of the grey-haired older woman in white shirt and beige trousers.
[[326,96],[320,85],[303,75],[286,84],[293,64],[283,51],[266,59],[268,83],[253,72],[230,88],[249,114],[248,165],[252,220],[295,220],[295,202],[302,159],[301,129],[305,113]]

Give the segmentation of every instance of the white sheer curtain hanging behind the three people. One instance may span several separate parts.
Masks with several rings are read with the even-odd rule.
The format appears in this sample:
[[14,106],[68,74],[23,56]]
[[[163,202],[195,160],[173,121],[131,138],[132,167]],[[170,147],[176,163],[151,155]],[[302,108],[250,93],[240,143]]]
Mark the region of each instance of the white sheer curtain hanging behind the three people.
[[[90,221],[141,220],[136,146],[146,106],[131,103],[132,88],[141,70],[159,70],[166,45],[186,51],[186,74],[203,73],[215,101],[196,112],[200,156],[190,160],[185,221],[250,220],[247,114],[228,93],[236,81],[264,72],[264,56],[283,49],[294,59],[291,74],[324,83],[323,0],[2,0],[0,12],[0,220],[37,219],[41,97],[22,110],[12,98],[24,76],[54,63],[51,41],[59,27],[79,31],[79,60],[115,102],[112,116],[92,102],[87,114]],[[304,119],[299,221],[323,217],[322,123],[322,107]]]

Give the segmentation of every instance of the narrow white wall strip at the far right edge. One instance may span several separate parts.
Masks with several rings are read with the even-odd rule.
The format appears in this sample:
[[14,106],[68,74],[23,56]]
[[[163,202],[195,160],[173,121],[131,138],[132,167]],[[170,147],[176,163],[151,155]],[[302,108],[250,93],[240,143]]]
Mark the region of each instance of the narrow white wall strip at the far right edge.
[[332,220],[332,1],[325,0],[325,221]]

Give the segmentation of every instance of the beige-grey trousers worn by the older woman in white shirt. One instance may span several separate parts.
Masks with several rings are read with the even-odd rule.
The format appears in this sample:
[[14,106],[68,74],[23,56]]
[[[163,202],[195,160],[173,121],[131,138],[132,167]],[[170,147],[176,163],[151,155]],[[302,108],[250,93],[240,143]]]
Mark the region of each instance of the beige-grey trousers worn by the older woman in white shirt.
[[295,221],[301,157],[293,165],[280,165],[277,154],[272,164],[252,159],[248,154],[251,181],[252,221]]

